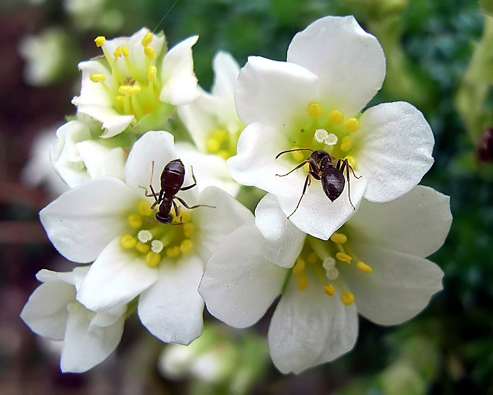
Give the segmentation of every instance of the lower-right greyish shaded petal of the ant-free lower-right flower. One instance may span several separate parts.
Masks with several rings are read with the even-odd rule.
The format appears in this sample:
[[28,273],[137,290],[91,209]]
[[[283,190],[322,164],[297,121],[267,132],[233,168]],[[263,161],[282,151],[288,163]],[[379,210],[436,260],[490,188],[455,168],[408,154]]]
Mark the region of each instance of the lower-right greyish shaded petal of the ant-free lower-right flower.
[[373,272],[366,274],[347,264],[338,267],[358,312],[370,321],[380,325],[407,321],[442,289],[443,272],[427,259],[364,245],[353,249]]

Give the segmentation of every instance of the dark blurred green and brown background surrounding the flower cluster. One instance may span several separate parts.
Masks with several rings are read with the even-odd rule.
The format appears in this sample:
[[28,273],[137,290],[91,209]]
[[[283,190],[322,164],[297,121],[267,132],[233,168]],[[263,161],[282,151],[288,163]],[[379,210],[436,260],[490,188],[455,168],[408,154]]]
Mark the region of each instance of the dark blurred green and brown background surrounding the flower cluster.
[[[163,378],[157,360],[164,345],[132,318],[108,361],[84,374],[62,374],[57,345],[41,341],[18,317],[38,285],[40,268],[72,267],[38,222],[39,209],[60,191],[43,178],[41,162],[34,165],[39,174],[23,173],[31,146],[40,132],[53,134],[74,113],[70,99],[80,89],[77,62],[98,55],[94,37],[128,35],[142,26],[152,30],[168,11],[158,30],[164,30],[171,45],[200,35],[195,71],[205,89],[211,85],[216,51],[229,51],[241,66],[248,55],[285,60],[294,33],[321,16],[354,14],[379,38],[387,56],[384,88],[370,105],[406,100],[423,111],[435,134],[435,164],[422,184],[451,196],[452,228],[445,245],[430,257],[445,272],[444,290],[423,313],[397,327],[360,319],[351,353],[298,376],[283,376],[267,357],[259,357],[254,362],[258,372],[244,391],[493,394],[493,18],[474,0],[173,3],[0,4],[0,394],[233,391],[226,379],[211,383],[193,374],[175,381]],[[488,1],[482,5],[493,8]],[[206,320],[212,321],[207,313]],[[268,322],[264,318],[251,336],[265,338]],[[237,332],[225,336],[232,347],[249,341]]]

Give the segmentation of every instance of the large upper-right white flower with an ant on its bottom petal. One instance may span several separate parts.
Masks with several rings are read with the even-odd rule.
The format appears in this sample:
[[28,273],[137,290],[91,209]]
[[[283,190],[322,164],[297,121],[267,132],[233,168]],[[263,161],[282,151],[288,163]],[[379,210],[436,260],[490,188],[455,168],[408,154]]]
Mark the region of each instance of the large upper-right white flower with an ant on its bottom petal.
[[[362,176],[349,177],[356,208],[362,197],[385,202],[404,195],[433,163],[433,134],[423,114],[409,103],[380,104],[361,113],[384,77],[382,47],[352,16],[321,18],[297,33],[287,62],[248,58],[236,89],[238,115],[247,126],[237,156],[228,160],[232,177],[276,195],[284,214],[290,215],[307,170],[276,174],[286,174],[310,152],[276,156],[295,148],[324,149],[336,160],[347,159]],[[334,133],[337,143],[318,142],[318,129]],[[346,182],[332,202],[312,179],[290,220],[300,230],[328,239],[354,213],[348,187]]]

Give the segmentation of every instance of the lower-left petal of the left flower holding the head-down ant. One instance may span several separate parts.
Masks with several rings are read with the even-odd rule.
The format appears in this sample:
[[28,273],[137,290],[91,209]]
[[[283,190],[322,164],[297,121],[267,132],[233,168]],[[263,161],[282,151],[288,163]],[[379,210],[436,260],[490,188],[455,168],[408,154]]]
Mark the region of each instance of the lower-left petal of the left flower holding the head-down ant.
[[147,266],[143,255],[124,250],[117,237],[91,265],[77,300],[90,310],[108,310],[128,303],[157,280],[158,270]]

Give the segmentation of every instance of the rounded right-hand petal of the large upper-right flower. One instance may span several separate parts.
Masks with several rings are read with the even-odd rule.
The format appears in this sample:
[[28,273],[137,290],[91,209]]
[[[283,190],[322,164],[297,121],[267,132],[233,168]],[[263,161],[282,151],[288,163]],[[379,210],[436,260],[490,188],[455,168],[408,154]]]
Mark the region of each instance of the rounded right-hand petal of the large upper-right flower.
[[433,164],[433,133],[415,106],[396,101],[361,116],[357,169],[368,180],[364,198],[384,202],[413,189]]

